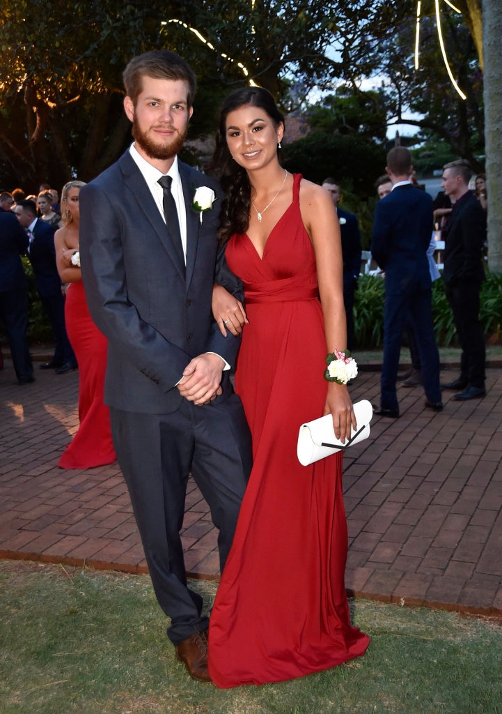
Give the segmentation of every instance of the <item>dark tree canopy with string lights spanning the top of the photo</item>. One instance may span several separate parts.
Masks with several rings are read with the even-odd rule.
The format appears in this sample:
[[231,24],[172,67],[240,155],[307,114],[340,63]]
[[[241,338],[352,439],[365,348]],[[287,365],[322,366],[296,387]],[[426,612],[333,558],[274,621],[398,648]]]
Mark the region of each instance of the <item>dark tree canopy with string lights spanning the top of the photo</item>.
[[[429,15],[433,5],[422,2]],[[412,69],[415,11],[415,0],[11,0],[0,18],[0,182],[34,191],[40,181],[88,180],[111,164],[130,138],[123,67],[160,47],[178,51],[198,75],[192,137],[212,132],[222,96],[252,79],[284,111],[317,87],[337,94],[337,123],[347,133],[357,131],[359,111],[370,113],[373,139],[384,136],[386,121],[409,121],[474,159],[483,126],[471,35],[447,13],[452,66],[469,90],[462,106],[432,18],[424,21],[421,69]],[[375,74],[383,86],[364,93]]]

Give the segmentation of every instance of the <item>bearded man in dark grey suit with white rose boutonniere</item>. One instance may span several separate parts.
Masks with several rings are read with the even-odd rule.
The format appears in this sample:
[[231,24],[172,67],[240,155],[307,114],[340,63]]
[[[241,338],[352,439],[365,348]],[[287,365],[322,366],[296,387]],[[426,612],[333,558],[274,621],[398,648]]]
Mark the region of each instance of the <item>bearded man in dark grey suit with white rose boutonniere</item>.
[[208,618],[187,586],[180,528],[192,473],[219,529],[223,568],[251,448],[229,378],[239,339],[222,336],[211,297],[215,280],[241,300],[242,290],[217,248],[220,188],[178,161],[193,71],[173,52],[150,51],[130,61],[124,84],[135,142],[81,190],[83,283],[108,338],[113,443],[155,594],[171,618],[168,637],[190,675],[205,681]]

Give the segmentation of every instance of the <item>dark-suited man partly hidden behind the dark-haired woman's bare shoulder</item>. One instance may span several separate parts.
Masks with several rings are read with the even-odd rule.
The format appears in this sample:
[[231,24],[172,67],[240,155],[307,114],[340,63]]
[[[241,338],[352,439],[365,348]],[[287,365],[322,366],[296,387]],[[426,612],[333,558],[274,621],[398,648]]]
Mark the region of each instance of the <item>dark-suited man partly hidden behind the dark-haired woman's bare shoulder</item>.
[[340,200],[340,184],[329,176],[324,178],[322,188],[331,194],[337,209],[342,236],[342,258],[344,261],[344,307],[347,318],[347,348],[352,351],[354,345],[354,295],[357,290],[357,279],[361,271],[361,233],[359,223],[354,213],[338,208]]

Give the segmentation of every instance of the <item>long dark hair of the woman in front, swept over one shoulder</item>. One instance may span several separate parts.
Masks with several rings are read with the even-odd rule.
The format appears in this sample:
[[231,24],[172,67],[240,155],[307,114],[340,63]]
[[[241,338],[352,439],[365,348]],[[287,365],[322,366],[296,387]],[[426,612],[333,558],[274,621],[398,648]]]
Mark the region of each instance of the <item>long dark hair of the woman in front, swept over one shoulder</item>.
[[284,124],[284,116],[277,109],[272,94],[262,87],[242,87],[232,92],[220,109],[220,124],[212,169],[220,179],[225,197],[220,213],[218,241],[225,243],[233,233],[245,233],[250,223],[251,185],[247,173],[230,154],[227,146],[227,116],[231,111],[250,104],[263,109],[275,126]]

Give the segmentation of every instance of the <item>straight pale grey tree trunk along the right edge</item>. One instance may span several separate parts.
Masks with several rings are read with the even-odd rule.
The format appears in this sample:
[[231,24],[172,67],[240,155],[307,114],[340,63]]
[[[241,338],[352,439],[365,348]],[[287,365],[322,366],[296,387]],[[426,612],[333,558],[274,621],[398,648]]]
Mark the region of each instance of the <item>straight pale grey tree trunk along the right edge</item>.
[[502,3],[483,0],[483,54],[486,190],[488,193],[488,267],[502,273]]

